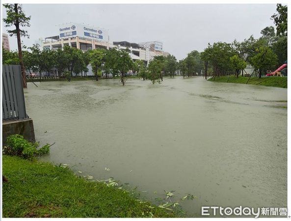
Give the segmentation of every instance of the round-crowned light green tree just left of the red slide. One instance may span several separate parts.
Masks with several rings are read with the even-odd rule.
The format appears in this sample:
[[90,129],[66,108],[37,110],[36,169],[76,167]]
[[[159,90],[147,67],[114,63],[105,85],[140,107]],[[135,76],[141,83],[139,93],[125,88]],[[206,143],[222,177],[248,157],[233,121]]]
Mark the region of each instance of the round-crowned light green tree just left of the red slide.
[[257,50],[257,55],[251,58],[252,65],[259,71],[259,78],[262,72],[272,70],[278,63],[277,55],[268,47],[261,47]]

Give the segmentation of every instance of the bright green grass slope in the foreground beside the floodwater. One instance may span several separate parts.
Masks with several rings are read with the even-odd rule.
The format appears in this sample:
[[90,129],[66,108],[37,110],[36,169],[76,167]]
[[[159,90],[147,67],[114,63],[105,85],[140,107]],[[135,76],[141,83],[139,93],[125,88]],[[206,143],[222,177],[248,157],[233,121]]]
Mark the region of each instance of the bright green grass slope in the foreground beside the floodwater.
[[177,217],[63,166],[3,155],[3,217]]

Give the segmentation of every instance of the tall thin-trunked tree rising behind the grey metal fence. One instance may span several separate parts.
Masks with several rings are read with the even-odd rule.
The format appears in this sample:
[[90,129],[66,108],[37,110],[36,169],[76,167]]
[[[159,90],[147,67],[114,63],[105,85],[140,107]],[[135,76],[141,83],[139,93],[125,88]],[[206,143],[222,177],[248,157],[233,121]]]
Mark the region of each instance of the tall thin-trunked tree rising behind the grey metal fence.
[[21,48],[21,36],[27,36],[27,31],[21,29],[22,27],[29,27],[30,16],[26,17],[21,4],[3,4],[6,8],[7,17],[3,19],[6,24],[5,27],[15,26],[13,30],[7,30],[10,36],[16,35],[17,45],[18,45],[18,55],[21,66],[22,78],[23,78],[23,87],[27,88],[26,83],[26,70],[23,63],[23,55]]

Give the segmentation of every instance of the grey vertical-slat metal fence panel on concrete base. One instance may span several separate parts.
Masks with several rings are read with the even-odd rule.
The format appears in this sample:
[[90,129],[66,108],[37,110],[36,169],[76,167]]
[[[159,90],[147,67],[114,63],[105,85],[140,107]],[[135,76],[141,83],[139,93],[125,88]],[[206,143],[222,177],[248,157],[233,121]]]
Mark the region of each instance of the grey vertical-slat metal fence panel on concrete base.
[[20,65],[2,65],[2,120],[26,118]]

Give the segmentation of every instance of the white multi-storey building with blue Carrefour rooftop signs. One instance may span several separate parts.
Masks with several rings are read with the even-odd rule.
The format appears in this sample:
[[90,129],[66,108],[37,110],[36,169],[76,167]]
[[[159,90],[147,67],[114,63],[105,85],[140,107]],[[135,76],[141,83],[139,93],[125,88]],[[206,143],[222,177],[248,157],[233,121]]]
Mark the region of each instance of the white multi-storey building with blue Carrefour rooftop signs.
[[[67,23],[58,26],[58,35],[46,37],[42,41],[43,48],[57,50],[65,45],[78,48],[83,52],[102,48],[109,50],[118,47],[128,48],[132,60],[144,60],[148,63],[156,55],[168,55],[162,51],[162,43],[157,41],[131,43],[128,41],[109,41],[108,30],[99,27],[91,27],[84,24]],[[90,68],[89,68],[90,69]]]

